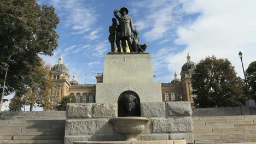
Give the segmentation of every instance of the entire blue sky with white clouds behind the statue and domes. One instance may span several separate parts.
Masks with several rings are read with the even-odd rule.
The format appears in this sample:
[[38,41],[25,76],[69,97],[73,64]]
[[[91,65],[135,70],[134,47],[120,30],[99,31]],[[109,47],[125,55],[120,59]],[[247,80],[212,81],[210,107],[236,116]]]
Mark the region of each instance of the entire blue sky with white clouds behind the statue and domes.
[[[63,63],[77,80],[96,83],[103,72],[104,55],[110,52],[108,27],[113,11],[129,9],[139,31],[140,43],[152,54],[155,81],[170,82],[187,61],[199,62],[206,56],[228,58],[243,78],[238,52],[245,69],[256,61],[256,1],[254,0],[37,0],[53,5],[60,17],[57,26],[59,47],[54,56],[42,56],[50,65],[63,53]],[[86,73],[87,71],[87,73]],[[179,76],[179,75],[178,75]],[[86,78],[86,79],[85,79]]]

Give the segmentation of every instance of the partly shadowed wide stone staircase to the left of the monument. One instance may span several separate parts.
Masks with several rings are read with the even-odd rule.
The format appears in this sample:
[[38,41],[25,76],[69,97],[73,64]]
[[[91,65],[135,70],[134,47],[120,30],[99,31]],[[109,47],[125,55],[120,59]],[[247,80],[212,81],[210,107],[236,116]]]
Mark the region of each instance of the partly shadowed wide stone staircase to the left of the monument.
[[2,112],[0,143],[64,143],[65,111]]

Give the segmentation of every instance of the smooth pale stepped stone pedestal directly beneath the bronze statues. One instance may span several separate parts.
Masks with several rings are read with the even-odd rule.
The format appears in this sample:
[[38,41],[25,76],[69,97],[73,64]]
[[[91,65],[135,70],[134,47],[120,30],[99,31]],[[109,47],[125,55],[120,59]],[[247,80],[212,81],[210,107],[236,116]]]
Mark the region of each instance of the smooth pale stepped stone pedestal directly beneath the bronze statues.
[[117,103],[125,91],[137,93],[141,102],[162,101],[161,82],[154,81],[150,54],[105,56],[103,82],[96,84],[96,103]]

